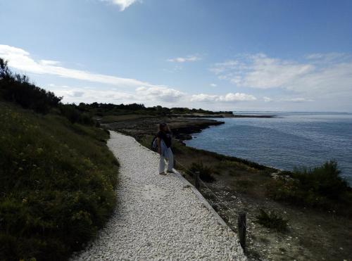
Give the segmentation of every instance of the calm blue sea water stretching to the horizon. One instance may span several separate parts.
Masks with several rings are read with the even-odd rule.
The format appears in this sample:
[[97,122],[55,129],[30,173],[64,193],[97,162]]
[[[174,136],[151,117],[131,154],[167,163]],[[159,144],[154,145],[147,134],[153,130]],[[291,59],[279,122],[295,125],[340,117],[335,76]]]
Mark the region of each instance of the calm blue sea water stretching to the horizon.
[[271,118],[223,118],[204,129],[188,146],[245,158],[282,170],[316,167],[337,160],[352,184],[352,113],[237,112]]

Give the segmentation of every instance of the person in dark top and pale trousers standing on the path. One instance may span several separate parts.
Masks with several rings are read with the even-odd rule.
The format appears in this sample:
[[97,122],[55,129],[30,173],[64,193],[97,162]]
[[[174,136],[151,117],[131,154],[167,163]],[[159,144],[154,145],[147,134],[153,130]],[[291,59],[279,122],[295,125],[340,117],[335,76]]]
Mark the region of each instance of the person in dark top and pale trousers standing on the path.
[[158,143],[159,160],[159,174],[165,175],[165,159],[168,160],[168,173],[173,173],[172,167],[174,165],[174,156],[171,151],[172,133],[166,123],[161,123],[158,127],[158,134],[156,139]]

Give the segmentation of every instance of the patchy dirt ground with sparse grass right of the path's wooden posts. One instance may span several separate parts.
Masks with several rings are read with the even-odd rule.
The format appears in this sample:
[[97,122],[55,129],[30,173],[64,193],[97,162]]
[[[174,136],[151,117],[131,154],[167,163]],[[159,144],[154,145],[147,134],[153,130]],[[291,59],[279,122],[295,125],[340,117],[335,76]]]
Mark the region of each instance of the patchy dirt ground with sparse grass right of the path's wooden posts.
[[[296,208],[266,198],[265,189],[256,182],[261,177],[217,179],[218,182],[207,184],[216,198],[205,187],[201,191],[235,231],[239,211],[246,212],[250,260],[351,260],[350,219],[334,213]],[[251,185],[239,188],[241,185],[236,183],[243,180],[252,181],[242,182]],[[256,216],[260,208],[267,212],[274,211],[287,219],[288,231],[278,232],[258,224]]]

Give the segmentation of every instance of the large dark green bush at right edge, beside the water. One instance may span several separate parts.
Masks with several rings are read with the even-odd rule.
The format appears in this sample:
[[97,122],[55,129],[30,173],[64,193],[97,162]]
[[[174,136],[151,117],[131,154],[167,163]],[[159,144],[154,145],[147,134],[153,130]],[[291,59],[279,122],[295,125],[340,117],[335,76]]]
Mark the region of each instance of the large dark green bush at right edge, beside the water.
[[313,169],[285,172],[282,177],[270,182],[267,188],[268,195],[275,200],[352,214],[351,187],[340,176],[337,163],[333,160]]

